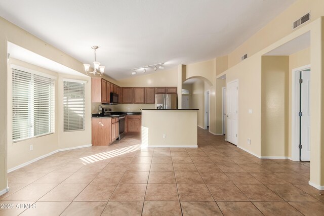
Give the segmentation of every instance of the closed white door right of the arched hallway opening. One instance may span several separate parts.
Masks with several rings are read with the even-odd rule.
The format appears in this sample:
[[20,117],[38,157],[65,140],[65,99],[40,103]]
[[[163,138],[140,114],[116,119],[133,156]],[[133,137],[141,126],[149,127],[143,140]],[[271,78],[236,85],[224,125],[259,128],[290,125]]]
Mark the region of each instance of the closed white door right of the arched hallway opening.
[[226,84],[226,140],[237,145],[238,81]]

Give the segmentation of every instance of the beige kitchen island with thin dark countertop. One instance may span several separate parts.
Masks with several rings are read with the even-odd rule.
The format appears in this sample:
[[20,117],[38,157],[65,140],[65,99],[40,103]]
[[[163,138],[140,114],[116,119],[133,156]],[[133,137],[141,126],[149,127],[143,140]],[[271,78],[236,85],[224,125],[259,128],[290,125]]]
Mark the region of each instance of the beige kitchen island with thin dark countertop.
[[197,146],[198,109],[142,109],[142,146]]

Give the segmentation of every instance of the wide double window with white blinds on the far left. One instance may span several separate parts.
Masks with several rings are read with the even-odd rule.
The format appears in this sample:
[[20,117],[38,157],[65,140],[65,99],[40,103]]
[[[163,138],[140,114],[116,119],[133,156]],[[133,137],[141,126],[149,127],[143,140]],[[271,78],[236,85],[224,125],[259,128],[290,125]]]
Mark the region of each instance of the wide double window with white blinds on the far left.
[[18,142],[55,132],[55,79],[12,70],[12,139]]

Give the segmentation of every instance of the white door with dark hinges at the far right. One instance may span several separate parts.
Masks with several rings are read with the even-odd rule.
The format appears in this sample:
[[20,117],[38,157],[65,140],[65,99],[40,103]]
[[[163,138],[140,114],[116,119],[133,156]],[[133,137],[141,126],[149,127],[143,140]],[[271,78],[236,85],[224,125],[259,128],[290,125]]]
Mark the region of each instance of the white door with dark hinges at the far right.
[[303,161],[310,160],[310,71],[301,71],[301,155]]

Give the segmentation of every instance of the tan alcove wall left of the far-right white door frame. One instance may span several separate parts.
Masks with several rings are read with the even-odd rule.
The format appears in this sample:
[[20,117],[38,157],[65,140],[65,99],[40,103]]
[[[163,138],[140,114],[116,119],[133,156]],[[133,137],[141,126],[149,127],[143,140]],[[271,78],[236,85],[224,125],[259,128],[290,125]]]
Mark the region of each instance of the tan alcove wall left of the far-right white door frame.
[[261,155],[288,156],[289,56],[262,56]]

